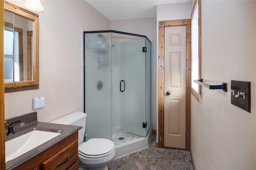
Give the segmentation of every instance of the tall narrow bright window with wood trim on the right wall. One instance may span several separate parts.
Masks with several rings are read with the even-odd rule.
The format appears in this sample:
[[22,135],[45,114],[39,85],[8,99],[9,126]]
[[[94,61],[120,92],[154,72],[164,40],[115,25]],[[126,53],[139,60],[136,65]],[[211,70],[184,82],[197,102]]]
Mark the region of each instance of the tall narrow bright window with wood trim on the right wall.
[[191,93],[201,102],[201,87],[194,80],[201,79],[201,0],[194,2],[191,14]]

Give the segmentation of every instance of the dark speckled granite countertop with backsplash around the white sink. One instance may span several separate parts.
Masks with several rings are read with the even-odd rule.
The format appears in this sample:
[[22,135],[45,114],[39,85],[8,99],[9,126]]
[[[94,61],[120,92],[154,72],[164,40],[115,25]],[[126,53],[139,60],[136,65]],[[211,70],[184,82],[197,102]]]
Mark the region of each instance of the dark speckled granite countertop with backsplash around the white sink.
[[[82,129],[80,126],[73,126],[73,125],[61,125],[55,123],[44,123],[37,121],[37,113],[32,112],[25,115],[21,115],[18,117],[13,117],[11,119],[7,119],[9,122],[13,122],[19,120],[19,123],[14,123],[14,132],[13,135],[6,135],[5,141],[9,141],[21,135],[24,135],[30,131],[38,130],[38,131],[49,131],[49,132],[57,132],[60,135],[52,138],[51,140],[39,145],[38,147],[14,158],[8,162],[6,162],[6,169],[15,169],[18,168],[20,164],[30,160],[33,157],[36,157],[41,152],[45,151],[46,149],[52,147],[59,141],[62,141],[66,137],[72,135],[73,133],[77,132],[79,129]],[[8,126],[6,126],[6,133],[8,130]]]

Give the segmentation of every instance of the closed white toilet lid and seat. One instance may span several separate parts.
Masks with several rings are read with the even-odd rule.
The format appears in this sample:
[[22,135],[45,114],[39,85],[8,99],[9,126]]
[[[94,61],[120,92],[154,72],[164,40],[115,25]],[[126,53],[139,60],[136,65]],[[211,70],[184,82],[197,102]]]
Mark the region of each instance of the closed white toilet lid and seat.
[[114,143],[108,139],[93,138],[80,145],[78,151],[85,157],[96,158],[110,154],[114,147]]

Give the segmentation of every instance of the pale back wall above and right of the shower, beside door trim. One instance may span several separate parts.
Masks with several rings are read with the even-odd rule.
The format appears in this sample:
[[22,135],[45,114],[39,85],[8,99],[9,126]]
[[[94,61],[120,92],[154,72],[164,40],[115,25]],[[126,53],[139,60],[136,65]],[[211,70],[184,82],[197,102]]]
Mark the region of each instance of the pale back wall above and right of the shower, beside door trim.
[[156,54],[156,18],[140,18],[133,20],[114,20],[110,21],[110,29],[116,31],[123,31],[128,33],[134,33],[139,35],[146,35],[153,44],[152,51],[152,113],[153,113],[153,130],[156,130],[156,91],[157,91],[157,79],[156,79],[156,71],[157,71],[157,54]]

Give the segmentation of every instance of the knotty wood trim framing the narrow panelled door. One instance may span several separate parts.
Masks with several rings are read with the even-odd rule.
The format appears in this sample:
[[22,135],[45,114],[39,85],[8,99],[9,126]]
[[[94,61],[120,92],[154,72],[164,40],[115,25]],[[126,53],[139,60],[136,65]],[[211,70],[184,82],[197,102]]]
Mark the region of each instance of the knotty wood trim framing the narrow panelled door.
[[159,21],[158,39],[158,143],[164,147],[164,28],[186,26],[186,150],[190,151],[191,20]]

